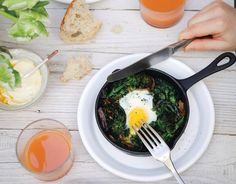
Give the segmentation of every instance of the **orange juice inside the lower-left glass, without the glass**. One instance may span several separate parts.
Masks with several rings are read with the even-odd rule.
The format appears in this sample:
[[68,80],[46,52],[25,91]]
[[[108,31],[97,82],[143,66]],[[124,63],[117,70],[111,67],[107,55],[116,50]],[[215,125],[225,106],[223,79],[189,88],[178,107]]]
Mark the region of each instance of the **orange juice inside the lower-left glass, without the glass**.
[[23,152],[25,166],[32,172],[50,172],[67,160],[70,142],[60,131],[44,130],[35,134]]

